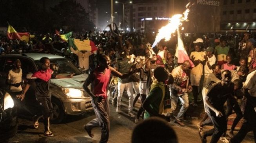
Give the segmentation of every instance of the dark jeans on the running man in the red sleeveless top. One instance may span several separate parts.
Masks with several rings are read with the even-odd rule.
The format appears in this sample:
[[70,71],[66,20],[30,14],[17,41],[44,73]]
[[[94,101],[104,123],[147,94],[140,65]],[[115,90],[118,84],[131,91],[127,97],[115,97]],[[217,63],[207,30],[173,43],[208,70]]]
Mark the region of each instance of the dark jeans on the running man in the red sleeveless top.
[[107,102],[107,99],[103,99],[102,97],[98,97],[97,101],[92,99],[91,103],[93,105],[96,118],[86,124],[87,129],[91,130],[94,127],[100,127],[101,128],[100,143],[107,143],[109,139],[109,129],[110,129],[109,104]]

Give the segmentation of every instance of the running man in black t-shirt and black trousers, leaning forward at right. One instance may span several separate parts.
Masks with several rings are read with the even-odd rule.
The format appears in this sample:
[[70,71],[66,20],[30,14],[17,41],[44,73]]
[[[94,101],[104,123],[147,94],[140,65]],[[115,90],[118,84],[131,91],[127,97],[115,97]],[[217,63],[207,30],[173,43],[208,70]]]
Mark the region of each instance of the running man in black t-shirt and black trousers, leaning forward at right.
[[231,72],[229,70],[222,71],[222,81],[212,85],[205,98],[207,114],[211,118],[214,128],[199,132],[202,143],[207,142],[207,136],[212,136],[211,143],[217,143],[222,134],[227,131],[227,116],[225,116],[223,105],[228,98],[231,100],[234,98],[231,95],[233,90]]

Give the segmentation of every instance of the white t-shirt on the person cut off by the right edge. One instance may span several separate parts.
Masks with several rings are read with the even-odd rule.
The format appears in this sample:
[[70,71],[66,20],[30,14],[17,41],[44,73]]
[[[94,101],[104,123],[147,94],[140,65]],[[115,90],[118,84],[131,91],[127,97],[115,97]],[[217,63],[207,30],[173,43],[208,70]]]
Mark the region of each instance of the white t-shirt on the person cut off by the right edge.
[[249,93],[252,97],[256,97],[256,71],[252,71],[247,75],[243,89],[249,89]]

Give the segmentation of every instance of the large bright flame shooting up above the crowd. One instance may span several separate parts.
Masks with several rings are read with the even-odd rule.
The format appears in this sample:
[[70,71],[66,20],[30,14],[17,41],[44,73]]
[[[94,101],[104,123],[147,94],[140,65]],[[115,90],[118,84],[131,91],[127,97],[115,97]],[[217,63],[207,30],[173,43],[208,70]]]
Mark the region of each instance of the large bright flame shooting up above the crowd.
[[169,20],[169,23],[165,26],[163,26],[161,29],[158,30],[158,33],[156,35],[156,39],[153,43],[153,46],[156,46],[157,43],[159,43],[162,39],[165,39],[165,41],[169,41],[171,39],[171,34],[174,33],[181,25],[183,21],[188,21],[187,16],[189,15],[189,7],[190,2],[186,5],[186,11],[184,11],[183,14],[175,14],[172,16],[172,18]]

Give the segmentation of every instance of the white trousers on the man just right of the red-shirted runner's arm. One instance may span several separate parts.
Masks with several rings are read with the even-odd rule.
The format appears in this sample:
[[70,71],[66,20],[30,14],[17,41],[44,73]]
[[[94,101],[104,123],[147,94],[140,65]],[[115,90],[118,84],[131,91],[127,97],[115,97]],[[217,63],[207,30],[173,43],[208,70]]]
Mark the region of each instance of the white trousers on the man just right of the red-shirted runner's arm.
[[118,82],[118,96],[117,96],[117,106],[116,108],[120,108],[121,105],[121,98],[123,96],[123,90],[126,89],[129,97],[129,112],[133,111],[133,82],[128,82],[122,84]]

